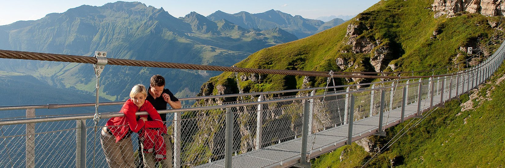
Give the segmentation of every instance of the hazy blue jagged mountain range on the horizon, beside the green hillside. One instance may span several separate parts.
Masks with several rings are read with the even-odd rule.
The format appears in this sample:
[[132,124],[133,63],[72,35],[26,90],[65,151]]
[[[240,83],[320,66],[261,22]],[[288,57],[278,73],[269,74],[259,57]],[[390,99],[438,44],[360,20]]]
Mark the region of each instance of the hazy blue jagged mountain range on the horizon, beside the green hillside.
[[[216,11],[207,16],[207,18],[212,21],[226,19],[246,29],[269,30],[281,28],[282,30],[294,34],[298,38],[304,38],[315,34],[324,24],[324,22],[320,20],[305,19],[299,15],[293,17],[290,14],[275,10],[258,14],[250,14],[248,12],[227,14],[222,11]],[[330,24],[327,24],[327,26],[329,25]],[[332,25],[331,27],[334,26],[336,25]]]

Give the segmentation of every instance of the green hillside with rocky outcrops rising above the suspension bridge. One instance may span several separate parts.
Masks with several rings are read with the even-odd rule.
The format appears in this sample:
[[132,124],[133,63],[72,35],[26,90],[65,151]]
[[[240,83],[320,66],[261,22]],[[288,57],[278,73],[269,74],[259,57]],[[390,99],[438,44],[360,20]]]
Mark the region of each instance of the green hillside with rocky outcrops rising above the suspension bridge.
[[[499,46],[503,32],[497,29],[504,27],[496,26],[499,17],[459,13],[453,18],[434,19],[432,3],[432,0],[380,1],[341,25],[307,38],[262,49],[236,66],[304,71],[416,71],[436,69],[470,58],[466,47],[481,47],[483,53],[489,54]],[[493,35],[495,38],[490,40]],[[474,61],[481,61],[487,57],[486,54],[477,55]],[[338,60],[344,64],[336,64]],[[457,70],[458,67],[454,67],[435,73]],[[427,72],[415,75],[431,74]],[[239,80],[240,88],[235,90],[259,92],[294,89],[300,88],[304,80],[304,77],[261,76],[263,80],[260,81],[245,78]],[[223,73],[211,78],[208,83],[216,87],[228,80],[235,81],[234,79],[234,73]],[[336,82],[364,83],[369,80],[340,79]],[[308,85],[325,86],[326,79],[310,79]],[[214,90],[213,93],[217,91]]]

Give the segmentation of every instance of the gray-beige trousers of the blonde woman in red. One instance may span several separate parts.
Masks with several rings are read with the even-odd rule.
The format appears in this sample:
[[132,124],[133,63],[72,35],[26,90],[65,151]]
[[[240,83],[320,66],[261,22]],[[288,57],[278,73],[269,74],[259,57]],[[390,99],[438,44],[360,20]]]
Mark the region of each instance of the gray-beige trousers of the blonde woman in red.
[[100,143],[104,149],[105,158],[109,167],[135,167],[135,158],[133,157],[133,145],[131,137],[120,140],[116,143],[116,137],[107,133],[104,128],[100,136]]

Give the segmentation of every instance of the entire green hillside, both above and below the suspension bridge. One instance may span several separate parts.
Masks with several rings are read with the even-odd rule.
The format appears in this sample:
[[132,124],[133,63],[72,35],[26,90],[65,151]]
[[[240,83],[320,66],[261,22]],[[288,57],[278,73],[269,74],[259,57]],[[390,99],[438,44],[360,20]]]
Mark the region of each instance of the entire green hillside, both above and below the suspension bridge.
[[[432,4],[433,0],[380,1],[376,5],[367,9],[365,12],[356,16],[354,19],[351,19],[341,25],[306,38],[259,50],[249,55],[249,57],[245,60],[235,64],[235,66],[259,69],[303,71],[333,70],[346,72],[398,72],[430,70],[452,65],[465,59],[469,59],[472,56],[475,58],[472,59],[468,65],[476,65],[485,60],[490,53],[494,52],[494,50],[499,47],[501,41],[503,41],[502,30],[505,26],[500,25],[500,17],[486,17],[480,14],[463,12],[457,13],[455,17],[439,17],[435,19],[435,12],[431,9]],[[480,48],[482,53],[469,55],[466,51],[467,47]],[[456,72],[467,68],[466,66],[466,64],[462,64],[460,67],[437,70],[433,73],[445,74]],[[409,73],[402,75],[432,75],[432,72],[415,74]],[[371,81],[372,80],[370,79],[335,78],[336,85],[347,83],[367,83]],[[201,87],[198,95],[262,92],[323,86],[326,86],[326,78],[247,73],[236,74],[225,72],[206,82]],[[274,94],[266,96],[277,97],[286,95]],[[255,99],[256,97],[240,98]],[[219,100],[202,100],[201,102],[220,103],[235,100],[236,99],[234,97],[229,97]],[[462,100],[465,100],[465,98],[462,98]],[[484,143],[489,141],[474,141],[474,138],[467,136],[468,132],[463,132],[462,134],[450,134],[452,137],[436,137],[437,135],[435,134],[435,130],[456,129],[458,126],[457,124],[452,124],[447,121],[459,119],[458,122],[461,122],[461,120],[466,117],[472,116],[467,119],[469,122],[470,119],[479,119],[479,117],[481,117],[479,115],[470,115],[470,112],[463,112],[461,115],[456,116],[458,114],[456,111],[459,108],[459,102],[456,102],[456,100],[448,103],[446,106],[447,107],[444,109],[439,109],[439,111],[445,110],[446,114],[441,115],[443,114],[442,112],[437,112],[433,113],[433,116],[428,116],[428,118],[426,118],[429,122],[425,123],[428,123],[426,125],[430,125],[430,127],[423,127],[424,124],[417,127],[419,128],[419,131],[417,131],[420,133],[419,136],[411,136],[414,133],[411,131],[403,137],[408,140],[397,142],[396,145],[405,146],[405,148],[400,148],[405,153],[400,153],[399,149],[389,149],[391,150],[389,154],[381,155],[376,159],[376,161],[368,166],[388,167],[391,166],[391,162],[394,162],[394,166],[406,164],[409,166],[412,165],[412,167],[459,167],[458,165],[466,164],[427,164],[422,163],[421,160],[430,159],[437,162],[437,160],[439,160],[438,158],[441,159],[441,156],[445,155],[448,157],[444,158],[451,158],[452,160],[467,159],[465,160],[467,162],[477,162],[483,160],[482,157],[486,155],[485,152],[494,152],[494,155],[490,155],[490,158],[486,158],[484,160],[503,158],[501,154],[498,154],[501,151],[497,151],[501,150],[501,148],[496,148],[496,146],[502,145],[503,142],[495,143],[493,144],[495,145],[493,147]],[[497,107],[497,109],[500,108]],[[224,112],[220,111],[219,113]],[[465,116],[465,114],[467,114],[467,116]],[[205,118],[212,115],[185,114],[183,115],[183,118]],[[263,121],[265,123],[263,125],[264,127],[268,127],[269,123],[282,123],[282,125],[293,124],[290,123],[292,121],[291,116],[288,113],[270,113],[264,115],[272,116],[271,118]],[[495,116],[489,116],[489,118],[492,117]],[[240,116],[240,118],[242,120],[256,120],[254,117],[245,115]],[[484,119],[485,116],[482,115],[481,120],[485,121]],[[197,121],[198,124],[207,124],[208,122],[209,121],[206,120]],[[217,122],[219,123],[219,121]],[[246,142],[251,139],[249,134],[254,133],[254,130],[247,130],[247,128],[254,128],[254,124],[255,123],[253,122],[252,124],[241,124],[238,126],[243,135],[242,138],[244,143],[241,143],[241,146],[250,145]],[[494,125],[497,125],[497,123]],[[488,124],[486,126],[483,125],[479,127],[473,125],[470,126],[470,124],[467,124],[466,126],[469,128],[480,128],[481,130],[490,128],[488,127]],[[499,126],[493,126],[492,128],[495,127]],[[291,128],[282,128],[282,130],[277,130],[275,133],[271,134],[289,131],[294,130]],[[196,150],[208,152],[206,154],[209,154],[210,152],[217,154],[215,150],[219,147],[216,144],[219,144],[219,140],[221,139],[205,139],[200,137],[214,137],[219,135],[220,132],[222,132],[222,130],[219,129],[197,130],[191,133],[191,136],[195,138],[194,140],[188,142],[187,146],[198,146],[199,144],[209,143],[211,145],[208,149],[204,147],[197,147]],[[394,131],[388,130],[389,136],[390,134],[394,135],[394,133]],[[481,133],[480,135],[486,134]],[[264,137],[267,136],[264,135]],[[471,142],[470,144],[474,146],[469,145],[468,147],[462,147],[461,149],[456,150],[457,152],[453,152],[451,150],[439,150],[441,147],[445,147],[445,145],[449,142],[452,143],[453,140],[456,141],[456,139],[451,139],[453,137],[460,137],[458,139],[464,139],[467,143]],[[502,136],[496,135],[496,137],[496,139],[498,139]],[[389,139],[390,138],[391,137],[389,137]],[[495,139],[495,137],[492,137],[492,139]],[[270,142],[272,140],[277,140],[275,135],[263,139],[265,142]],[[427,143],[429,140],[431,140],[431,144],[423,144],[425,143],[424,141]],[[384,144],[387,141],[384,142],[384,139],[382,139],[379,142]],[[486,145],[488,147],[484,147]],[[437,148],[434,146],[437,146]],[[475,148],[472,148],[475,146],[488,151],[469,155],[468,158],[465,158],[466,156],[461,156],[465,154],[468,155],[469,152],[475,151]],[[357,150],[360,148],[361,150]],[[342,151],[346,152],[344,152],[344,155],[342,156],[343,163],[340,164],[338,162],[340,161]],[[318,167],[359,167],[370,157],[371,155],[365,152],[362,147],[352,145],[345,146],[337,149],[336,152],[321,156],[319,159],[313,161],[313,163]],[[200,161],[204,160],[204,162],[206,160],[204,158],[198,159]],[[496,161],[494,163],[496,163]],[[483,164],[476,163],[471,165]]]

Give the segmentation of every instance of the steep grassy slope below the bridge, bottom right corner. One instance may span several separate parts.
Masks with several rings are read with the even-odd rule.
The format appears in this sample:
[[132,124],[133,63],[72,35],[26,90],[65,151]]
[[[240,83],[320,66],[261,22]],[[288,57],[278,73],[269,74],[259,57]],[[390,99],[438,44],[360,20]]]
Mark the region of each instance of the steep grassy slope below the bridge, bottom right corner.
[[[505,127],[505,84],[495,85],[503,78],[505,66],[491,77],[490,82],[481,86],[478,94],[492,100],[481,101],[475,110],[461,111],[460,104],[469,101],[468,94],[461,100],[445,103],[418,126],[403,135],[387,150],[376,156],[366,167],[389,167],[390,160],[397,159],[396,167],[502,167],[505,165],[505,145],[502,129]],[[492,88],[492,87],[495,88]],[[486,96],[486,92],[490,92]],[[419,119],[411,119],[419,120]],[[412,123],[415,123],[412,122]],[[465,121],[467,122],[466,124]],[[403,127],[410,127],[406,121],[386,130],[386,137],[373,136],[379,147],[387,143]],[[400,135],[405,132],[402,131]],[[344,160],[340,162],[343,150]],[[344,146],[313,160],[313,167],[354,167],[361,166],[370,159],[364,149],[356,144]]]

